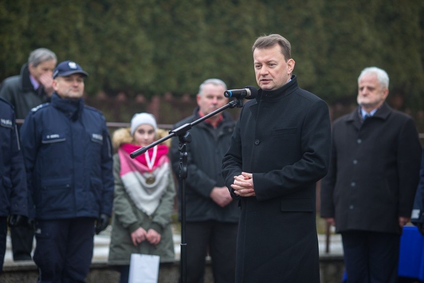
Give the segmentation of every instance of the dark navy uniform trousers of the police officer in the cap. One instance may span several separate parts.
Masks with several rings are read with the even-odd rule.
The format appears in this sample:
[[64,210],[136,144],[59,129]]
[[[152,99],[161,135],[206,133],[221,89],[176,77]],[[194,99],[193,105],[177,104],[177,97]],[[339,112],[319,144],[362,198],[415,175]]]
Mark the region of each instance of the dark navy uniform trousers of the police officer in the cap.
[[38,283],[84,283],[94,247],[94,218],[39,220],[34,262]]

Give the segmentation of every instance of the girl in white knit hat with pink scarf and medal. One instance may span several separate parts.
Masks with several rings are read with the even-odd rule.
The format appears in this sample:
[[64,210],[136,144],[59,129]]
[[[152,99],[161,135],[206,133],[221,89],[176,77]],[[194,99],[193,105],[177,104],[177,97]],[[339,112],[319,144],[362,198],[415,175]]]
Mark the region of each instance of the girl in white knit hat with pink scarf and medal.
[[158,132],[154,116],[139,113],[130,128],[119,129],[112,137],[117,153],[109,262],[120,266],[121,283],[128,282],[131,254],[158,255],[161,262],[175,259],[171,231],[175,185],[168,145],[158,144],[134,159],[129,156],[156,141]]

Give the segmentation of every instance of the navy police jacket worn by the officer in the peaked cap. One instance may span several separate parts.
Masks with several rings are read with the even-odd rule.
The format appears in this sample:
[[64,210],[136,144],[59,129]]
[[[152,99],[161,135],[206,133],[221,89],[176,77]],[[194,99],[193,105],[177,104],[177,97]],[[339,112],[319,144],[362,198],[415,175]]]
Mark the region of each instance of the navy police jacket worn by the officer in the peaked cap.
[[111,214],[112,148],[102,113],[84,100],[33,108],[20,129],[30,217],[41,220]]

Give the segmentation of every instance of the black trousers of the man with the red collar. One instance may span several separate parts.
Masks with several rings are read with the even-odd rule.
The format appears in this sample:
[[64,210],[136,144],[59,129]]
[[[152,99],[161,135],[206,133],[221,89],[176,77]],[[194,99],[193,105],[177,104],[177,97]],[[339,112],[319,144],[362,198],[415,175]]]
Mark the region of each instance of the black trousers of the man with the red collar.
[[234,283],[237,223],[187,222],[187,283],[203,283],[206,256],[212,259],[215,283]]

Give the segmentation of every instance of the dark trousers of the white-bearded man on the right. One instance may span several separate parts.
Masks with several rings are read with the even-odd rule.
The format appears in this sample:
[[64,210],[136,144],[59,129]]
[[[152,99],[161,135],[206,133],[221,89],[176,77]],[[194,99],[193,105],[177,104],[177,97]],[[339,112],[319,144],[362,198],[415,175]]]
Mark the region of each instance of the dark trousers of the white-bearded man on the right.
[[347,283],[397,283],[400,235],[341,233]]

